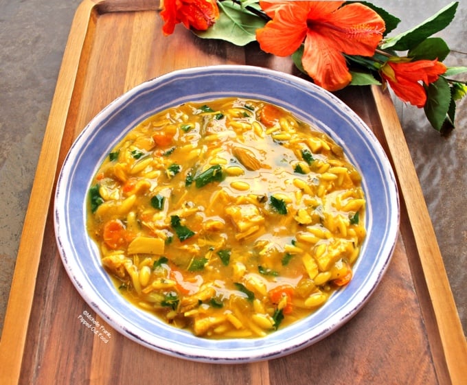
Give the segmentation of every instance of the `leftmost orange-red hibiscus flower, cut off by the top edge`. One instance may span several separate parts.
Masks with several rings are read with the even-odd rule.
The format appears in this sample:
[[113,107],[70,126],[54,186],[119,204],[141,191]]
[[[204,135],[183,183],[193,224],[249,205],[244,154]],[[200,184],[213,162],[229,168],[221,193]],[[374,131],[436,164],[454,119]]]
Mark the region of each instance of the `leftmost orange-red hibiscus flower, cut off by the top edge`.
[[205,31],[216,23],[219,9],[216,0],[164,0],[161,17],[165,21],[162,32],[166,35],[172,34],[178,23]]

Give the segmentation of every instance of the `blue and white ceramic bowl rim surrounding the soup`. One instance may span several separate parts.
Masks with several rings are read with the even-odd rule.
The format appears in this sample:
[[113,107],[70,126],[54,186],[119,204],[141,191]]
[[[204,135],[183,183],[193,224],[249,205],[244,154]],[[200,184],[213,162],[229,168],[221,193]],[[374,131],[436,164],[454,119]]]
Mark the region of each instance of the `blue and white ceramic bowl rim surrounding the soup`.
[[[91,180],[104,158],[140,121],[184,102],[231,96],[283,106],[343,147],[363,176],[367,237],[352,281],[314,314],[264,338],[209,340],[163,323],[119,294],[87,233],[86,201]],[[219,363],[281,357],[336,331],[361,309],[382,279],[399,223],[398,191],[389,161],[372,132],[348,106],[293,75],[236,65],[174,71],[140,84],[109,104],[71,146],[58,179],[54,210],[62,262],[76,290],[97,314],[149,349]]]

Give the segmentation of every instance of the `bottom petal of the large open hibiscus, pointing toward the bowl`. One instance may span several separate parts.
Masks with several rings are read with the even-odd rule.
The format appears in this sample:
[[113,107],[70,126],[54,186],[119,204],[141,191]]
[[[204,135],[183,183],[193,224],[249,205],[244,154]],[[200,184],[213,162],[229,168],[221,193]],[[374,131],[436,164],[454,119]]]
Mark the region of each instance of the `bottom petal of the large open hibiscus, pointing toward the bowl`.
[[328,91],[343,89],[352,80],[345,58],[326,36],[308,31],[301,64],[316,84]]

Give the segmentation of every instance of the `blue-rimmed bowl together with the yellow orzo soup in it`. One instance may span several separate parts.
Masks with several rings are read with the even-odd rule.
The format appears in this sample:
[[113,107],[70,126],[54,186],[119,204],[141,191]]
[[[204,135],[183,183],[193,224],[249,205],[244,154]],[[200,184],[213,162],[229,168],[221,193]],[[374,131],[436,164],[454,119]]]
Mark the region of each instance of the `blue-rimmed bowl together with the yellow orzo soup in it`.
[[65,159],[63,264],[115,330],[201,362],[267,360],[350,320],[389,264],[394,174],[323,89],[269,69],[174,71],[117,98]]

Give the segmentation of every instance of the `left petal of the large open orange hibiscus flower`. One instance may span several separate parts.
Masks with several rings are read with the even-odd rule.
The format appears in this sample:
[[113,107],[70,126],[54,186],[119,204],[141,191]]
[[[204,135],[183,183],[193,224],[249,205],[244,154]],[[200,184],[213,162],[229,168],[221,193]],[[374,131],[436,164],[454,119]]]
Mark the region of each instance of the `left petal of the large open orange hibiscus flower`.
[[256,31],[262,51],[277,56],[293,54],[306,36],[307,14],[308,8],[301,3],[278,8],[274,19]]

